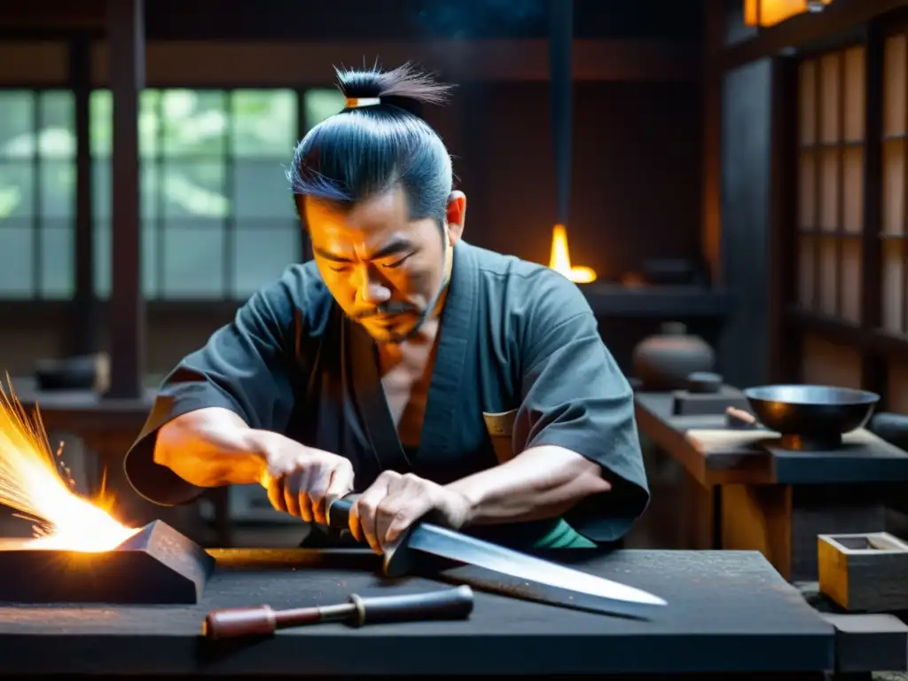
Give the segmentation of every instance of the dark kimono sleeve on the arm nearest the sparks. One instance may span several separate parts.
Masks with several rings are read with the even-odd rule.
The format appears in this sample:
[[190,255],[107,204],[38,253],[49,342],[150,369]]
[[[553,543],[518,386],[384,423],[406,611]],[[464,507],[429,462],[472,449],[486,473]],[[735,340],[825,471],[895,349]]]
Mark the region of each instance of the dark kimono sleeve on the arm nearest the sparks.
[[203,489],[153,460],[158,429],[183,414],[221,407],[251,428],[285,429],[293,408],[294,309],[285,277],[256,293],[230,324],[215,331],[163,381],[124,462],[127,479],[143,498],[176,506],[202,494]]

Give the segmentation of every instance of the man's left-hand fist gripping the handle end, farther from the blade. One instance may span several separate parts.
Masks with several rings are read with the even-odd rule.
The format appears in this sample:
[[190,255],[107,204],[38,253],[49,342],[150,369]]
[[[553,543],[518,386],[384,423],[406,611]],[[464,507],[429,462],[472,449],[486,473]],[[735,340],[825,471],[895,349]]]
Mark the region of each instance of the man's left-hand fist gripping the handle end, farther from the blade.
[[271,506],[306,522],[327,525],[327,502],[353,490],[353,466],[337,454],[291,439],[270,438],[262,485]]

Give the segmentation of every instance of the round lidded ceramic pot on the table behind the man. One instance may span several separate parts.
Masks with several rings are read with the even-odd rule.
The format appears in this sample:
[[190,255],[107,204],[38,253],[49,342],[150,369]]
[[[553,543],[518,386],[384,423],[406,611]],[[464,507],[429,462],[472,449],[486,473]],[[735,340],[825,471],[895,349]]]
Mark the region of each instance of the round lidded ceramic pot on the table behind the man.
[[657,335],[637,343],[633,365],[643,390],[682,390],[690,374],[713,370],[716,352],[699,336],[688,335],[684,324],[668,321]]

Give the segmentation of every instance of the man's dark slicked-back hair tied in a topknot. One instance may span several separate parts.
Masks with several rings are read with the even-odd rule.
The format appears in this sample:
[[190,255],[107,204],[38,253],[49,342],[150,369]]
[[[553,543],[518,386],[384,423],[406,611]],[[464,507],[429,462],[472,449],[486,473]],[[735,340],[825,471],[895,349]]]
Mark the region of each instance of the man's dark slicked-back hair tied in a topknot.
[[451,159],[438,133],[419,117],[421,104],[443,104],[450,86],[410,64],[392,71],[335,68],[347,98],[380,104],[345,108],[306,134],[287,173],[296,196],[352,205],[401,184],[411,219],[443,222],[452,186]]

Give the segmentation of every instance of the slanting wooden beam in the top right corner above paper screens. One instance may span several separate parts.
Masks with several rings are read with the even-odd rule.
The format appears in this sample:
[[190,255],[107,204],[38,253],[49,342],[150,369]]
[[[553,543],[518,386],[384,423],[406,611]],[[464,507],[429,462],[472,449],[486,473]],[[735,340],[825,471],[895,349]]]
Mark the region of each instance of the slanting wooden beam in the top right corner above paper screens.
[[908,0],[834,0],[823,12],[795,16],[781,24],[761,29],[753,38],[730,45],[722,54],[722,68],[734,69],[780,54],[788,48],[844,34],[875,17],[905,6],[908,6]]

